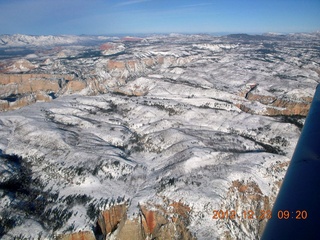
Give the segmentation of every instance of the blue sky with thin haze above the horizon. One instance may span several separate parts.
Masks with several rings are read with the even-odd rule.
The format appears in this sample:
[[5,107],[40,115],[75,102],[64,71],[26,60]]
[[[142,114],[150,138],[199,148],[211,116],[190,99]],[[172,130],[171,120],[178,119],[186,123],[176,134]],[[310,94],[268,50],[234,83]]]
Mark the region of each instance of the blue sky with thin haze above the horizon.
[[0,34],[320,30],[320,0],[0,0]]

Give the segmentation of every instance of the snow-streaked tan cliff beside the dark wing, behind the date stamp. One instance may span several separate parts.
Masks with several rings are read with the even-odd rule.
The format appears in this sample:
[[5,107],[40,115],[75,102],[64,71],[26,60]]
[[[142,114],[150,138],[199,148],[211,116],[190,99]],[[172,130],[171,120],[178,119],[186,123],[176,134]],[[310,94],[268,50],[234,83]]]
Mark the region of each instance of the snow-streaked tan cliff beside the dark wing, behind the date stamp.
[[[252,180],[234,180],[223,200],[219,210],[229,211],[229,216],[216,218],[218,225],[227,226],[225,239],[258,239],[263,233],[268,219],[272,216],[272,206],[282,184],[289,162],[276,162],[267,169],[265,176],[273,179],[271,192],[265,195],[259,185]],[[231,216],[231,211],[235,215]],[[222,215],[221,215],[222,216]]]

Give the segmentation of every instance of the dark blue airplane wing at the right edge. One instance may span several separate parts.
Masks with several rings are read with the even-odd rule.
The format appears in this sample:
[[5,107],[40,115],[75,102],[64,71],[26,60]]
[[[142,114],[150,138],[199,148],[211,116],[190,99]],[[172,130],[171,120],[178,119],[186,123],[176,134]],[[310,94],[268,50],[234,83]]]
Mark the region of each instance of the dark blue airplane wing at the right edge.
[[320,239],[320,84],[261,239]]

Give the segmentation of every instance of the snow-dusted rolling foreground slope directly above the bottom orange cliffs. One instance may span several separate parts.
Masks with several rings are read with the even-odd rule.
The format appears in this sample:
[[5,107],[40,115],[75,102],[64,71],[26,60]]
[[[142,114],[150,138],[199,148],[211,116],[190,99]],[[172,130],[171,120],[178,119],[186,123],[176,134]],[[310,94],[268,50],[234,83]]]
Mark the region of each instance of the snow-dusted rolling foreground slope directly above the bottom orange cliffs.
[[[190,104],[170,114],[165,106],[176,104],[112,95],[35,104],[1,116],[1,127],[9,129],[1,133],[5,140],[1,149],[24,159],[32,172],[29,184],[39,191],[34,198],[57,194],[50,204],[47,198],[42,200],[46,214],[52,208],[72,213],[56,233],[92,228],[95,218],[87,215],[90,204],[123,197],[134,213],[138,203],[165,196],[192,207],[191,231],[197,237],[217,237],[226,229],[211,219],[212,211],[233,202],[227,195],[231,183],[250,179],[263,195],[274,197],[276,178],[283,174],[267,168],[289,160],[299,130],[268,117]],[[277,138],[279,144],[270,144]],[[280,156],[264,144],[270,149],[281,147],[289,156]],[[70,207],[66,199],[77,202],[77,196],[84,196],[84,202]],[[15,217],[28,219],[21,215]],[[53,227],[46,224],[47,229]],[[209,229],[216,231],[207,235]]]

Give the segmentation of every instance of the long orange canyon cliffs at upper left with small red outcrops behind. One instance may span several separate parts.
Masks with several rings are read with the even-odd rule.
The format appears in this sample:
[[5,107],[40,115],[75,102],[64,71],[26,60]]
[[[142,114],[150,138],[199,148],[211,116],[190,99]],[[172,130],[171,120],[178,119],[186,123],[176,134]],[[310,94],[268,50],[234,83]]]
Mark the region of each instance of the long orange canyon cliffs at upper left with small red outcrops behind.
[[[108,43],[101,46],[101,50],[107,51],[107,55],[116,54],[114,51],[122,51],[123,49],[122,44]],[[37,101],[50,101],[52,99],[49,96],[50,93],[58,97],[78,93],[83,89],[87,89],[88,94],[101,94],[110,91],[128,96],[143,96],[148,93],[148,87],[125,86],[127,80],[143,76],[149,73],[153,67],[182,66],[195,58],[196,56],[156,55],[133,59],[108,59],[103,65],[106,72],[101,73],[100,69],[97,68],[85,80],[80,80],[73,74],[27,73],[34,69],[35,65],[27,60],[19,60],[15,63],[15,66],[17,64],[28,66],[28,71],[19,70],[13,74],[7,68],[6,73],[0,74],[0,111],[17,109]],[[17,69],[17,66],[15,69]],[[27,69],[26,67],[23,69]]]

